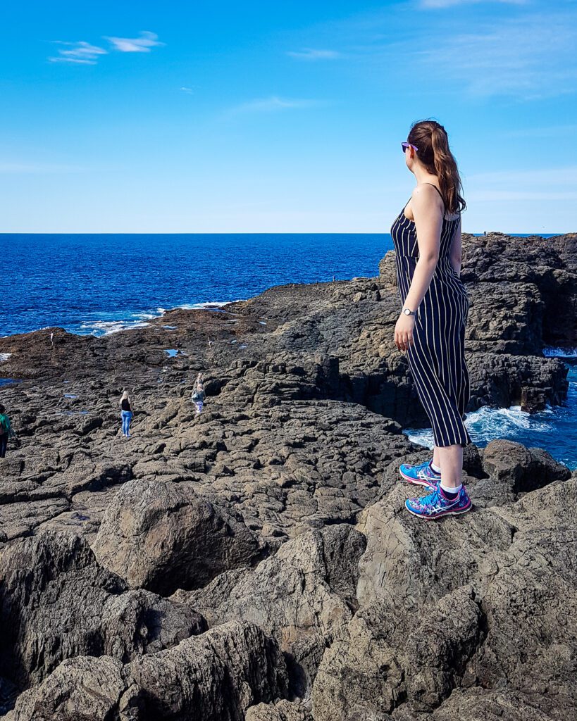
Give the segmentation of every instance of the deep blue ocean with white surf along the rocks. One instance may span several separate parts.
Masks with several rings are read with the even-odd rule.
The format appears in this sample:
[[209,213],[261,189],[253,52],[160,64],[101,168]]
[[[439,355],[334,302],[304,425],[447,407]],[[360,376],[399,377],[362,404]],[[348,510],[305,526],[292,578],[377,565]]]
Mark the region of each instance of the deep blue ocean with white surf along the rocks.
[[[104,335],[176,307],[236,301],[283,283],[375,276],[389,234],[0,235],[0,336],[60,326]],[[550,348],[547,355],[565,355]],[[6,382],[1,373],[0,386]],[[568,402],[529,416],[519,407],[468,414],[473,441],[542,446],[577,468],[577,358]],[[405,429],[432,445],[426,429]]]

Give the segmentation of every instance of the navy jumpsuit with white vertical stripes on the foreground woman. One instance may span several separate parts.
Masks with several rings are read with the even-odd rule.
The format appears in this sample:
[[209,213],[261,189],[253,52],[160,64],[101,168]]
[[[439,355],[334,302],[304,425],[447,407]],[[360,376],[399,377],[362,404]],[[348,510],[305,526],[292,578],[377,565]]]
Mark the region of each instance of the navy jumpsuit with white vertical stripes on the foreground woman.
[[[439,188],[433,187],[441,195]],[[407,351],[409,368],[420,402],[431,420],[436,446],[471,443],[463,423],[470,399],[469,371],[464,359],[469,299],[450,260],[459,218],[449,221],[443,216],[439,262],[417,309],[413,330],[415,344],[409,345]],[[399,296],[404,304],[419,257],[415,223],[405,216],[405,208],[392,224],[391,235],[395,244]]]

